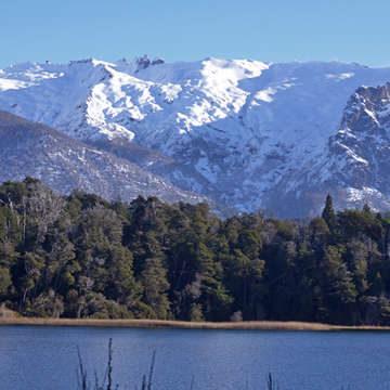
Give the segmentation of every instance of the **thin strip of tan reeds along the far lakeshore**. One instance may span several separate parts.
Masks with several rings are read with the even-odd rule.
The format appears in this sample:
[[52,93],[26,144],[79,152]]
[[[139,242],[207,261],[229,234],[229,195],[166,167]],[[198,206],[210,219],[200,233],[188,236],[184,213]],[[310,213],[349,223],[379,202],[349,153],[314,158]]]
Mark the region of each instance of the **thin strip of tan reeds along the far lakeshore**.
[[248,322],[185,322],[162,320],[92,320],[92,318],[36,318],[0,317],[0,326],[87,326],[126,327],[154,329],[223,329],[223,330],[296,330],[296,332],[341,332],[341,330],[390,330],[390,326],[374,325],[328,325],[321,323],[248,321]]

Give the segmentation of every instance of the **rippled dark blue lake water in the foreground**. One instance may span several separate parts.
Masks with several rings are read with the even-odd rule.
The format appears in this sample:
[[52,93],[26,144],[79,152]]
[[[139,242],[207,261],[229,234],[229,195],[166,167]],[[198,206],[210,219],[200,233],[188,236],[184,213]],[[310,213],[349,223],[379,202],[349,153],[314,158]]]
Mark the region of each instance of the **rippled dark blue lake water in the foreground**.
[[77,389],[79,346],[93,377],[102,375],[113,338],[114,379],[140,388],[156,350],[155,390],[390,389],[390,333],[152,330],[0,327],[1,390]]

